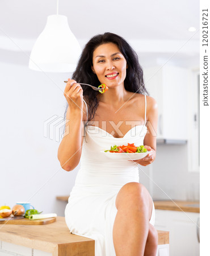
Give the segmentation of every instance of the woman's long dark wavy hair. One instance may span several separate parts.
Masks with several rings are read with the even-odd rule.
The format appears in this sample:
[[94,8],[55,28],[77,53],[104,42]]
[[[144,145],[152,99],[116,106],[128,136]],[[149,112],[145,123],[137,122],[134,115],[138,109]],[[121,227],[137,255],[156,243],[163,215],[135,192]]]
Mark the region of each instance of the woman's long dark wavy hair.
[[[93,66],[93,52],[101,44],[114,43],[120,49],[120,52],[127,61],[128,68],[126,71],[126,77],[124,80],[125,90],[133,93],[141,93],[149,95],[145,88],[143,80],[143,71],[138,63],[137,53],[121,36],[106,32],[104,34],[95,35],[89,40],[86,46],[83,48],[81,56],[79,58],[77,68],[75,69],[72,79],[85,84],[91,84],[98,88],[100,81],[98,77],[93,73],[91,66]],[[96,109],[98,108],[99,100],[98,94],[100,92],[93,90],[90,86],[81,85],[83,89],[83,97],[88,105],[89,118],[87,121],[94,119]],[[66,106],[66,111],[68,104]]]

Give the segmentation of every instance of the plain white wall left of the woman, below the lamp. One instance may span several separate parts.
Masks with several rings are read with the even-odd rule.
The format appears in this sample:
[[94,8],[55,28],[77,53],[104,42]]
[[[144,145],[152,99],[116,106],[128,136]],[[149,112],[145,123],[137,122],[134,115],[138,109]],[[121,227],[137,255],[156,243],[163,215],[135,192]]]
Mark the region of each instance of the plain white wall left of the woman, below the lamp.
[[44,121],[64,117],[63,81],[70,74],[45,74],[9,63],[0,63],[0,72],[0,205],[30,201],[44,213],[64,216],[56,196],[69,195],[77,170],[62,170],[60,142],[44,137]]

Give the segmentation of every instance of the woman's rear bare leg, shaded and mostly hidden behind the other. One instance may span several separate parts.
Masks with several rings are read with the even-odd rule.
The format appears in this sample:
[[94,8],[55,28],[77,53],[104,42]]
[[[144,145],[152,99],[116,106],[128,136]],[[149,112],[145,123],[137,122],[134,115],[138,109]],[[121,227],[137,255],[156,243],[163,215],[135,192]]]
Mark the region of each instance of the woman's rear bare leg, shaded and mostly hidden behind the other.
[[156,256],[158,246],[158,233],[152,224],[149,224],[149,233],[146,240],[144,256]]

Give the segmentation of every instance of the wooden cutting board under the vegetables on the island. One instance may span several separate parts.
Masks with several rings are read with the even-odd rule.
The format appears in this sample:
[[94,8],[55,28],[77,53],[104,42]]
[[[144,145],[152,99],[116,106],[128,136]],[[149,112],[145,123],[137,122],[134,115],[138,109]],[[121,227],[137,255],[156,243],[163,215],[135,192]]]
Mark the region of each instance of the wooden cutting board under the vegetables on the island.
[[42,218],[40,220],[28,220],[28,218],[16,218],[10,220],[2,220],[0,219],[1,224],[12,224],[12,225],[45,225],[50,224],[56,221],[56,217],[54,218]]

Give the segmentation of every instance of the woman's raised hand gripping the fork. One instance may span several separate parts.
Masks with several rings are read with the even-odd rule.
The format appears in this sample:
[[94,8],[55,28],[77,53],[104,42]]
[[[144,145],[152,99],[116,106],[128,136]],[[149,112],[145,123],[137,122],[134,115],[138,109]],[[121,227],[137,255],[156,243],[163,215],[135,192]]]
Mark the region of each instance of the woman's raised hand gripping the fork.
[[77,81],[68,79],[64,89],[64,96],[72,111],[83,111],[83,90]]

